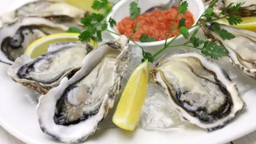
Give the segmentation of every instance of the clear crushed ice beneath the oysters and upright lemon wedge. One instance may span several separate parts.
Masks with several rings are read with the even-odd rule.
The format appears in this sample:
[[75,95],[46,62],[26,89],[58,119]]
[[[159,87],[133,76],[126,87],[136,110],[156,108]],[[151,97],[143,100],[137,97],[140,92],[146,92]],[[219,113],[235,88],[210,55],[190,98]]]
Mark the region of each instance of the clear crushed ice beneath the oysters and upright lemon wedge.
[[[105,43],[112,39],[109,34],[104,34]],[[99,125],[100,129],[109,129],[112,127],[116,127],[115,124],[112,122],[112,116],[116,109],[119,97],[122,94],[122,91],[125,87],[126,82],[128,81],[132,71],[141,63],[142,59],[142,51],[137,46],[129,46],[130,47],[130,65],[127,68],[122,80],[121,80],[121,90],[120,93],[117,95],[115,99],[115,105],[112,109],[110,109],[109,114],[105,118],[104,121]],[[168,55],[172,55],[175,53],[186,53],[186,52],[196,52],[200,53],[198,50],[191,49],[189,47],[173,47],[172,50],[169,50]],[[163,55],[161,58],[166,57],[168,55]],[[156,62],[158,62],[156,60]],[[229,59],[221,58],[219,60],[214,60],[218,63],[220,67],[225,69],[229,75],[229,77],[237,83],[238,91],[243,95],[245,92],[253,89],[254,85],[256,85],[255,79],[246,76],[238,70],[237,67],[233,66]],[[150,64],[150,67],[153,64]],[[38,93],[29,92],[29,94],[25,94],[25,97],[31,103],[37,103],[38,98],[40,95]],[[142,107],[141,111],[141,118],[138,123],[138,127],[142,127],[145,130],[168,130],[174,129],[177,127],[186,126],[188,123],[182,122],[179,118],[179,115],[173,110],[169,103],[169,98],[165,95],[162,87],[150,83],[148,85],[148,92],[145,102]]]

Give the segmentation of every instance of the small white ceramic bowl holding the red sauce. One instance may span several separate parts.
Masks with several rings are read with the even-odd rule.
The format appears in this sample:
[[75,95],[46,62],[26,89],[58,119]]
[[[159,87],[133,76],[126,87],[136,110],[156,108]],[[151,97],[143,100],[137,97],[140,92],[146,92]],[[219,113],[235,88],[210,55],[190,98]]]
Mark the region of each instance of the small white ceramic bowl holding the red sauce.
[[[130,16],[129,5],[133,1],[134,0],[122,0],[122,1],[118,2],[113,7],[112,12],[108,15],[107,20],[111,17],[111,18],[115,19],[116,22],[118,23],[123,18],[129,17]],[[203,14],[203,12],[205,10],[204,4],[203,4],[202,0],[186,0],[186,1],[188,2],[188,10],[194,15],[194,19],[195,19],[195,23],[196,23],[196,21],[199,19],[199,17],[201,16],[201,14]],[[156,6],[159,4],[165,4],[167,2],[169,2],[169,0],[139,0],[138,6],[141,8],[141,13],[143,13],[152,6]],[[194,23],[194,25],[195,25],[195,23]],[[189,33],[192,33],[195,30],[195,28],[190,29]],[[108,25],[108,30],[114,31],[115,33],[119,34],[117,27],[111,28],[110,25]],[[111,35],[115,38],[118,37],[115,34],[111,34]],[[170,42],[171,39],[172,38],[169,38],[167,40],[167,42]],[[176,41],[184,41],[184,40],[185,40],[184,37],[181,35],[175,40],[175,42]],[[137,43],[140,46],[142,46],[143,49],[145,49],[146,51],[148,51],[150,53],[155,53],[164,46],[165,40],[157,41],[157,42],[149,42],[149,43],[141,43],[141,42],[137,42]],[[135,45],[133,42],[130,42],[130,44]]]

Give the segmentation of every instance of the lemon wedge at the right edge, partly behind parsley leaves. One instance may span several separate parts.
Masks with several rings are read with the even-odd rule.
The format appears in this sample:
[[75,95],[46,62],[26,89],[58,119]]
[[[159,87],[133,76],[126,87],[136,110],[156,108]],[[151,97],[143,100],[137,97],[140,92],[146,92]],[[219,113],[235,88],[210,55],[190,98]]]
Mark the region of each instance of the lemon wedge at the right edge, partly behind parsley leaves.
[[[239,23],[238,25],[233,25],[235,28],[241,28],[241,29],[247,29],[256,32],[256,17],[245,17],[242,18],[242,22]],[[229,25],[228,20],[226,19],[220,19],[217,20],[216,22],[224,24],[224,25]]]

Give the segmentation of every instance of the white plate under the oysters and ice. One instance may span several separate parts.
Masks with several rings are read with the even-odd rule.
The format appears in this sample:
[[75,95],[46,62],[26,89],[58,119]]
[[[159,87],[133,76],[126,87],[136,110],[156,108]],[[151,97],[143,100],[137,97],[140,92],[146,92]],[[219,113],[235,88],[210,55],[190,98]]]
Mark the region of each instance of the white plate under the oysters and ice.
[[[1,0],[0,14],[12,9],[14,2],[18,6],[25,1]],[[29,90],[11,81],[6,74],[7,67],[0,63],[0,125],[26,143],[60,143],[41,131],[36,104],[24,97]],[[108,129],[97,131],[85,143],[226,143],[256,130],[255,94],[256,90],[252,90],[243,95],[246,110],[221,130],[208,133],[197,126],[171,131]]]

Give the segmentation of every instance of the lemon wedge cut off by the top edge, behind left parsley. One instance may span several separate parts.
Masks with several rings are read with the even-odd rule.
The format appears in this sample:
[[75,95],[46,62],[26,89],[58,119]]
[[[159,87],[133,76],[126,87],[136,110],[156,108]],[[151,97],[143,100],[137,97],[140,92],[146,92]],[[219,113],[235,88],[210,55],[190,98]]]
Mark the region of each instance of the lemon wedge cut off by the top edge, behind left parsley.
[[[103,13],[103,10],[97,11],[92,9],[92,4],[94,0],[65,0],[66,3],[76,6],[80,9],[83,9],[85,11],[89,11],[90,13]],[[111,6],[111,4],[109,4],[109,7]]]

